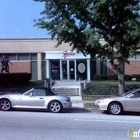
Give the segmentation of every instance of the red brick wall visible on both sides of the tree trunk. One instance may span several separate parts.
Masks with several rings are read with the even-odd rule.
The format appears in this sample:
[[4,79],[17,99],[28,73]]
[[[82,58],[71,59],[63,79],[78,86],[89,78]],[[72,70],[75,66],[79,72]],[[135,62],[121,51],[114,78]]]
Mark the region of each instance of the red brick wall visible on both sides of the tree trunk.
[[[108,74],[115,74],[109,62]],[[131,60],[130,64],[125,64],[125,74],[140,74],[140,60]]]

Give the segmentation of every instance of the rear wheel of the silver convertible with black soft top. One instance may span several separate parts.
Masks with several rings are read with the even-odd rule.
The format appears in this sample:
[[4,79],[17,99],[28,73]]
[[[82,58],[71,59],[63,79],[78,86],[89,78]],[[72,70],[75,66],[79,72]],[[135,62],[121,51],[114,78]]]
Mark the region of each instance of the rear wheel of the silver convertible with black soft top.
[[50,104],[49,104],[49,110],[51,112],[58,113],[58,112],[61,111],[61,109],[62,109],[62,105],[61,105],[60,102],[58,102],[58,101],[52,101],[52,102],[50,102]]

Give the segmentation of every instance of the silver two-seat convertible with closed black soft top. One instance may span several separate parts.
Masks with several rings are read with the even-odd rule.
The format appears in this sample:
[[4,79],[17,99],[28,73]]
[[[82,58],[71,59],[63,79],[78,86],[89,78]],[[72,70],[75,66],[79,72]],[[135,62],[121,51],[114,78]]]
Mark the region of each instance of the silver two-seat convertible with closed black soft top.
[[12,108],[47,109],[57,113],[62,109],[70,109],[70,97],[53,93],[45,87],[32,88],[23,94],[0,95],[0,109],[8,111]]

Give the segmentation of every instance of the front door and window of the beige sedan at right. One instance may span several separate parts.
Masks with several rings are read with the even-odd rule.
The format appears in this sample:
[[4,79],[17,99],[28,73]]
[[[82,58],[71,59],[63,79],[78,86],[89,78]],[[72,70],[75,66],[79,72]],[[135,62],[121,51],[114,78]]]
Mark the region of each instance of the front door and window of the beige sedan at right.
[[140,91],[127,95],[124,99],[125,111],[140,111]]

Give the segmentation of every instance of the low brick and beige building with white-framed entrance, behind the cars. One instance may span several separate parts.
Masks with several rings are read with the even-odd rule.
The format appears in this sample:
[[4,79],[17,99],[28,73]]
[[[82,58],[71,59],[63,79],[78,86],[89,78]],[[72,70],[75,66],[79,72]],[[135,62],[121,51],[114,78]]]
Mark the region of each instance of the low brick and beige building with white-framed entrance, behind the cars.
[[[84,56],[63,43],[55,47],[57,40],[50,38],[4,38],[0,39],[0,56],[9,56],[13,65],[10,72],[28,72],[32,80],[92,80],[95,74],[114,74],[109,61]],[[101,39],[101,43],[104,40]],[[130,58],[125,74],[139,74],[140,53]]]

